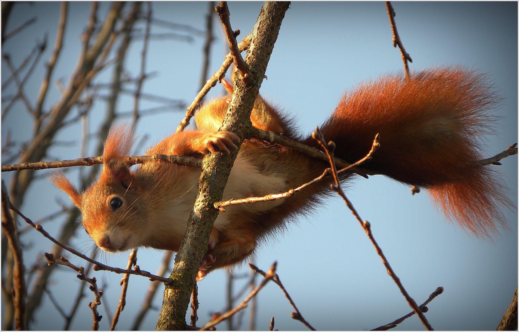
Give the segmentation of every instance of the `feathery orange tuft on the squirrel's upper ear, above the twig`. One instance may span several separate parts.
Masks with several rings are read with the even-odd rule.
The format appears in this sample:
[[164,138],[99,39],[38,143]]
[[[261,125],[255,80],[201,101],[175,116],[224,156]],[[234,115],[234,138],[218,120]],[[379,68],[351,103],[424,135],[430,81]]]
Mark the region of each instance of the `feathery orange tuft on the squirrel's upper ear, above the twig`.
[[133,129],[127,123],[113,125],[104,143],[103,164],[128,156],[133,141]]

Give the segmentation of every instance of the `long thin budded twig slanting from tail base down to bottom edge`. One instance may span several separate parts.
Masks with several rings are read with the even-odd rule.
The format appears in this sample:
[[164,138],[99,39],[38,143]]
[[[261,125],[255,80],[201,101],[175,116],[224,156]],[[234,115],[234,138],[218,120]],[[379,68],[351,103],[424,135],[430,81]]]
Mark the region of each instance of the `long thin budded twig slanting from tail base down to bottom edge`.
[[[326,143],[326,141],[324,140],[323,135],[321,134],[321,132],[319,131],[319,128],[317,128],[317,127],[316,127],[316,130],[312,133],[312,137],[319,142],[321,147],[324,149],[326,154],[329,156],[330,165],[332,166],[333,176],[334,176],[334,179],[335,179],[335,183],[331,185],[332,189],[337,194],[339,194],[341,197],[343,197],[344,201],[346,202],[346,205],[351,210],[351,213],[353,213],[353,215],[357,218],[357,220],[361,224],[361,226],[364,229],[364,231],[366,232],[367,236],[370,238],[371,242],[375,246],[377,254],[382,259],[382,261],[383,261],[383,263],[384,263],[384,265],[385,265],[385,267],[386,267],[386,269],[388,271],[388,274],[391,276],[391,278],[393,278],[393,281],[397,284],[398,288],[400,288],[400,291],[402,292],[402,294],[404,295],[405,299],[409,303],[409,306],[411,306],[411,308],[413,308],[413,310],[418,315],[418,317],[420,317],[420,321],[422,322],[422,324],[424,324],[427,327],[428,330],[432,330],[432,327],[429,324],[429,322],[427,321],[427,318],[425,317],[424,313],[422,313],[420,311],[420,309],[418,309],[418,305],[416,304],[415,300],[411,296],[409,296],[409,294],[405,290],[404,286],[400,282],[399,277],[397,276],[397,274],[394,273],[393,269],[391,268],[391,265],[389,264],[389,261],[387,260],[386,256],[382,252],[382,249],[380,248],[378,243],[375,241],[375,238],[373,237],[373,233],[371,232],[371,224],[370,224],[370,222],[368,222],[367,220],[366,221],[362,221],[362,218],[360,217],[359,213],[353,207],[353,204],[351,204],[350,200],[348,200],[348,197],[346,197],[346,194],[344,193],[342,188],[340,188],[340,181],[339,181],[339,177],[337,175],[337,168],[335,166],[334,158],[333,158],[333,150],[335,149],[335,143],[333,143],[333,142]],[[379,144],[378,144],[377,140],[375,140],[374,143],[373,143],[373,147],[372,147],[371,151],[374,151],[374,149],[378,148],[378,145]]]

